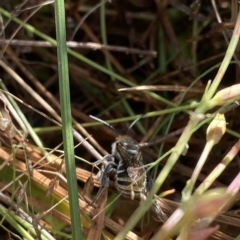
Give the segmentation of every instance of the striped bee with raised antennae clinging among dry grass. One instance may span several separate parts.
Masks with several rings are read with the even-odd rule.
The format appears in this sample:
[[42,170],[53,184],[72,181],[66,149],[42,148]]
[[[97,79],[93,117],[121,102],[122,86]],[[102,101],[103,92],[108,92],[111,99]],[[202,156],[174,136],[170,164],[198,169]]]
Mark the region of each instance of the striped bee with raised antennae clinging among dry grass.
[[146,199],[151,189],[151,178],[144,167],[143,156],[138,142],[128,135],[133,125],[140,119],[136,119],[129,127],[126,135],[120,135],[109,123],[90,116],[110,127],[118,136],[112,144],[112,154],[104,157],[111,161],[105,166],[101,176],[101,185],[108,187],[108,175],[115,173],[115,186],[118,192],[131,199]]

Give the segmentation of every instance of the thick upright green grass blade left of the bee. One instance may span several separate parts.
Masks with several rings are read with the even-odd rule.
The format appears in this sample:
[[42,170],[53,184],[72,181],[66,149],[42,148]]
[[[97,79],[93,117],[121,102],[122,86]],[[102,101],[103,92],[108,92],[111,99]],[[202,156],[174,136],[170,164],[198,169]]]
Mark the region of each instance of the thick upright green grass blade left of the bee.
[[58,53],[61,117],[63,127],[62,134],[64,142],[67,185],[70,203],[72,238],[73,240],[80,240],[82,239],[82,233],[78,201],[77,178],[75,174],[76,166],[74,158],[73,133],[72,133],[64,0],[56,0],[54,2],[54,5],[56,19],[56,35],[58,43],[57,53]]

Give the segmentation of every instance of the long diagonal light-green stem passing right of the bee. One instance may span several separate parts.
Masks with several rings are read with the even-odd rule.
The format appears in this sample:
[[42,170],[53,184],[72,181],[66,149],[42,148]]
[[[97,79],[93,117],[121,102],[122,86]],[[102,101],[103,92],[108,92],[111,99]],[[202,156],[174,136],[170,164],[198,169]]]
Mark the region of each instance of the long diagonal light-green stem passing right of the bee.
[[[218,70],[218,73],[217,73],[211,87],[209,88],[210,83],[206,87],[206,91],[203,95],[202,101],[200,102],[199,106],[195,110],[196,115],[197,114],[203,114],[207,110],[209,110],[209,108],[210,108],[209,100],[215,94],[215,91],[216,91],[218,85],[220,84],[220,81],[222,80],[222,77],[223,77],[228,65],[230,64],[230,61],[232,59],[232,56],[233,56],[234,51],[235,51],[236,46],[237,46],[239,35],[240,35],[240,11],[238,13],[238,18],[237,18],[237,22],[236,22],[236,25],[235,25],[235,28],[234,28],[233,36],[232,36],[232,39],[230,41],[230,45],[229,45],[229,48],[226,52],[224,60],[223,60],[221,66]],[[134,226],[137,224],[139,219],[150,208],[150,206],[152,204],[152,199],[154,197],[154,194],[159,190],[159,188],[162,186],[163,182],[165,181],[165,179],[169,175],[173,166],[177,162],[179,156],[183,152],[186,144],[188,143],[188,141],[189,141],[189,139],[192,135],[193,129],[197,126],[199,121],[200,120],[198,118],[190,118],[190,120],[188,122],[188,125],[186,126],[186,128],[185,128],[184,132],[182,133],[181,137],[179,138],[176,146],[173,148],[172,154],[169,156],[167,163],[165,164],[164,168],[162,169],[162,171],[158,175],[158,177],[157,177],[157,179],[156,179],[156,181],[155,181],[155,183],[154,183],[154,185],[153,185],[153,187],[152,187],[152,189],[149,193],[149,196],[148,196],[147,200],[144,202],[144,207],[142,206],[142,204],[140,204],[140,206],[135,210],[135,212],[132,214],[132,216],[126,222],[122,231],[118,233],[118,235],[115,238],[116,240],[123,240],[125,238],[126,234],[128,233],[128,231],[130,231],[131,229],[134,228]],[[155,236],[158,236],[158,233],[156,233]],[[153,239],[157,239],[157,237],[155,237]]]

